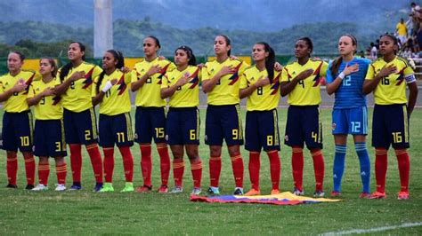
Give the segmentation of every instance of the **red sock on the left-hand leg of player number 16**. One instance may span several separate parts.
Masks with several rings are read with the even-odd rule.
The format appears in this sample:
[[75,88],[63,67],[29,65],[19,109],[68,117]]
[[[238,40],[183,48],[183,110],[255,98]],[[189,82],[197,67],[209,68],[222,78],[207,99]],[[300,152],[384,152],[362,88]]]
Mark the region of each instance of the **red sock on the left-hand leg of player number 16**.
[[375,148],[375,178],[377,192],[385,193],[385,176],[387,170],[387,150],[384,147]]

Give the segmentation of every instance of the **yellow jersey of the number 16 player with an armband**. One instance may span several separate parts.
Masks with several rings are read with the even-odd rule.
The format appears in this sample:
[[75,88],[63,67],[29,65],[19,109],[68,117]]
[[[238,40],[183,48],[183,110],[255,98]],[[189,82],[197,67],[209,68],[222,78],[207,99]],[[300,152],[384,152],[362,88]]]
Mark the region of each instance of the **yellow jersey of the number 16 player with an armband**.
[[[372,62],[368,67],[366,74],[367,80],[374,79],[375,75],[383,67],[394,65],[397,67],[397,73],[388,75],[381,79],[377,88],[374,90],[375,104],[378,105],[391,105],[391,104],[405,104],[408,99],[406,97],[406,83],[416,82],[413,70],[409,66],[406,59],[395,57],[390,62],[385,62],[384,59],[377,59]],[[406,81],[406,83],[404,83]]]

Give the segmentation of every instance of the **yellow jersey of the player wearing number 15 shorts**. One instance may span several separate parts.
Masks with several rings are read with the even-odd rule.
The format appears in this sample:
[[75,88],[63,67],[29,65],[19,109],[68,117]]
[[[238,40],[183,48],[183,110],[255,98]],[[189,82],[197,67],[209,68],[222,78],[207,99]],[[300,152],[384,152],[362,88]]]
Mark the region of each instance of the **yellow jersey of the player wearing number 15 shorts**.
[[166,106],[166,100],[160,96],[161,84],[164,79],[164,75],[167,71],[174,70],[175,66],[173,62],[167,59],[154,59],[152,61],[143,60],[134,65],[132,70],[132,83],[138,81],[145,73],[148,72],[150,67],[155,66],[161,67],[161,71],[150,76],[147,81],[138,90],[135,98],[136,106],[154,106],[162,107]]

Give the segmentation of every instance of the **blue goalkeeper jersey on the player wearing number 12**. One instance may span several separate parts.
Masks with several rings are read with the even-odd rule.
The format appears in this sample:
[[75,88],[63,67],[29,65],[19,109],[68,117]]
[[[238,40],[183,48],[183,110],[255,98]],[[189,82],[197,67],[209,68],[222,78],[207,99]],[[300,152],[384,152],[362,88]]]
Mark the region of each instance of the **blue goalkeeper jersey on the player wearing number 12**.
[[359,64],[359,71],[345,76],[343,82],[340,84],[340,86],[338,86],[335,92],[336,98],[334,101],[334,109],[366,106],[366,97],[362,92],[362,86],[370,64],[369,59],[354,57],[349,62],[342,61],[340,67],[338,67],[337,75],[332,75],[332,62],[330,62],[329,68],[327,69],[326,82],[332,83],[345,69],[346,65],[350,67],[354,64]]

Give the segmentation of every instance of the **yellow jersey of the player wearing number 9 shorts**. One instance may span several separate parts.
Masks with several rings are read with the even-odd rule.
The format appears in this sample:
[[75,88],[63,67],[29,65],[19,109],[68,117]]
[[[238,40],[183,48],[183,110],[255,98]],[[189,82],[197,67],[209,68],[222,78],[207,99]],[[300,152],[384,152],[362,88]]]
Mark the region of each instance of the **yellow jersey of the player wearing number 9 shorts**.
[[248,63],[231,58],[224,60],[223,63],[219,63],[217,60],[208,61],[202,68],[202,81],[205,82],[213,78],[223,67],[228,66],[236,68],[236,72],[221,77],[214,89],[207,93],[210,105],[233,105],[240,101],[240,77],[243,75],[243,71],[249,67]]

